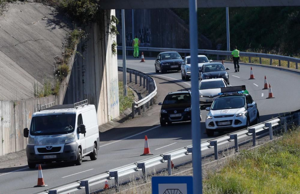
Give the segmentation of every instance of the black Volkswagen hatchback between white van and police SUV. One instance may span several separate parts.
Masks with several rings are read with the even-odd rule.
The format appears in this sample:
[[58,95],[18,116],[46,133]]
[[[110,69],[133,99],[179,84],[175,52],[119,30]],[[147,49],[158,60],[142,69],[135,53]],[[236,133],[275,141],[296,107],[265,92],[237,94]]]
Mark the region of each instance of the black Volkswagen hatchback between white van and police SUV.
[[[182,122],[191,120],[191,94],[190,91],[170,92],[161,105],[160,122],[161,126],[166,123]],[[199,108],[200,110],[200,108]],[[200,111],[201,120],[201,111]]]

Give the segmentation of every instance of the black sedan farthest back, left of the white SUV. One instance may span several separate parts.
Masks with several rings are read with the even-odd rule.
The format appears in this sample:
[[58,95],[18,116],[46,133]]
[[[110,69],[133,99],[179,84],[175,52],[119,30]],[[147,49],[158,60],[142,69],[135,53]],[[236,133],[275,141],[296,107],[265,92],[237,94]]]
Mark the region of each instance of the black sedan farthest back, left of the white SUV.
[[158,54],[155,60],[155,72],[180,71],[183,59],[177,52],[163,52]]

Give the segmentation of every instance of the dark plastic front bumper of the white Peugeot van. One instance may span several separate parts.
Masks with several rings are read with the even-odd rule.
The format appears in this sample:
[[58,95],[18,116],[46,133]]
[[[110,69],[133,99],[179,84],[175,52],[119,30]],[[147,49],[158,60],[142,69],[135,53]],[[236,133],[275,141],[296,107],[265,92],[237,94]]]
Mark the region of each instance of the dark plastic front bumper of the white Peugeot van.
[[[46,146],[46,145],[45,145]],[[53,146],[53,145],[51,145]],[[64,144],[63,152],[35,154],[35,146],[27,145],[26,154],[30,163],[47,163],[55,161],[75,161],[77,159],[78,144],[76,142]],[[49,158],[47,155],[51,155]],[[55,157],[55,158],[54,158]]]

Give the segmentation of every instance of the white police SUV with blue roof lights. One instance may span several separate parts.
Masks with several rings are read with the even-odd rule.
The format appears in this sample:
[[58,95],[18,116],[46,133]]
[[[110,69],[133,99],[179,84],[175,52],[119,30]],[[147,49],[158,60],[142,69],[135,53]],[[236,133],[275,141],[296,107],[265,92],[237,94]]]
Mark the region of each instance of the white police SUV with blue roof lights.
[[221,88],[221,93],[206,115],[206,134],[234,131],[259,123],[259,112],[256,103],[249,94],[244,94],[241,86]]

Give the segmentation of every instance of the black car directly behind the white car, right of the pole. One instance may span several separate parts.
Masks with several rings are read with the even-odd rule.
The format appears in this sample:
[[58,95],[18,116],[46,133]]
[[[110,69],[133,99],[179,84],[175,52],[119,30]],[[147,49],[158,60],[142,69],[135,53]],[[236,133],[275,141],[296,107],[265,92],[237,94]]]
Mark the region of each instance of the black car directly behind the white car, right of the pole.
[[226,70],[229,70],[229,68],[225,69],[220,62],[204,63],[200,71],[200,79],[223,78],[229,84],[229,74]]

